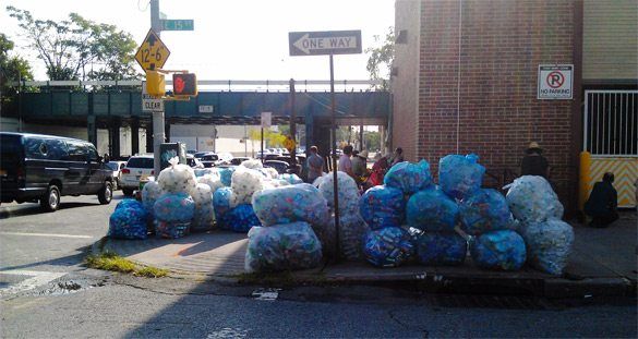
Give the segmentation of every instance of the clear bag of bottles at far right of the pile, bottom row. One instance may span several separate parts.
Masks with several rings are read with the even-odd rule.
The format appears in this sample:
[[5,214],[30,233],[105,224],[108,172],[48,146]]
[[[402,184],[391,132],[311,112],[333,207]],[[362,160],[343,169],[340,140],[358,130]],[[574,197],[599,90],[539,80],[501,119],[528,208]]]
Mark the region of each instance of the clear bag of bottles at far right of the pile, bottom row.
[[522,239],[531,266],[551,275],[563,274],[574,244],[569,223],[557,219],[532,222],[522,227]]

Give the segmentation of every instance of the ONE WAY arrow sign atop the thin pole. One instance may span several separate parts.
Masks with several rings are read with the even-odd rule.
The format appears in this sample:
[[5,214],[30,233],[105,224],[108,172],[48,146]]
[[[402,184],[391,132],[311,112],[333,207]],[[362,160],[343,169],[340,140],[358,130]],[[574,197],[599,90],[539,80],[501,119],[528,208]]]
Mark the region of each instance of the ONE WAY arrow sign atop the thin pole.
[[290,56],[361,53],[361,31],[290,32]]

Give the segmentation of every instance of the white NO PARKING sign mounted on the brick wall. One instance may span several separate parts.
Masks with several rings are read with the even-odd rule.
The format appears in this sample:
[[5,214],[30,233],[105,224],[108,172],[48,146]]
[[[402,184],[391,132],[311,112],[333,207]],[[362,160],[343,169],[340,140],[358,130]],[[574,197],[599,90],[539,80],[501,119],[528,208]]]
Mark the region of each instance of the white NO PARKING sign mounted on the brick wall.
[[573,64],[539,64],[538,99],[571,99]]

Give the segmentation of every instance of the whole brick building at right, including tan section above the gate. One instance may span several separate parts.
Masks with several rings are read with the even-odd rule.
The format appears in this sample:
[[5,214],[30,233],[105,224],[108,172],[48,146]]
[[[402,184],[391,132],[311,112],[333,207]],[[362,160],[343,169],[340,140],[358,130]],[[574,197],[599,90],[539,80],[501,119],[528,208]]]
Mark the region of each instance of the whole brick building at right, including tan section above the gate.
[[[592,152],[583,131],[595,130],[583,128],[586,90],[629,89],[625,108],[610,111],[619,134],[607,138],[638,172],[637,13],[638,0],[396,1],[393,146],[433,173],[447,154],[478,154],[485,185],[497,186],[518,175],[537,141],[574,208],[579,153]],[[537,98],[540,64],[574,65],[573,99]]]

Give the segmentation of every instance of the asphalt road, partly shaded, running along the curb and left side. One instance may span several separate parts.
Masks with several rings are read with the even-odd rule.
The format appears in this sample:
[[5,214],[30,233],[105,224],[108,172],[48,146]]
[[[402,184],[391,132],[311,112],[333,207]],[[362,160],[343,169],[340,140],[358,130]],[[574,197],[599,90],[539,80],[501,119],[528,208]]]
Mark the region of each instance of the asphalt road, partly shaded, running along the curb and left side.
[[550,301],[375,287],[237,286],[87,269],[110,205],[0,207],[0,337],[637,337],[635,299]]

